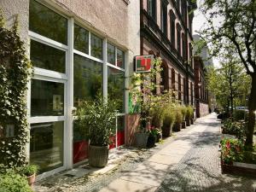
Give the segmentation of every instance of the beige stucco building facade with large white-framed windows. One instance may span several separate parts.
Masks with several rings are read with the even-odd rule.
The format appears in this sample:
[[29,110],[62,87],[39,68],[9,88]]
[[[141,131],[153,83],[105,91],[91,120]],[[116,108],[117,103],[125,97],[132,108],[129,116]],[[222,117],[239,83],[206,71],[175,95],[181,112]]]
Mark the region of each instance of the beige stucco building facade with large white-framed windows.
[[12,26],[19,16],[34,75],[28,84],[27,157],[38,179],[87,158],[88,141],[75,121],[79,103],[101,92],[119,103],[115,148],[125,143],[127,78],[140,54],[139,2],[128,0],[0,1]]

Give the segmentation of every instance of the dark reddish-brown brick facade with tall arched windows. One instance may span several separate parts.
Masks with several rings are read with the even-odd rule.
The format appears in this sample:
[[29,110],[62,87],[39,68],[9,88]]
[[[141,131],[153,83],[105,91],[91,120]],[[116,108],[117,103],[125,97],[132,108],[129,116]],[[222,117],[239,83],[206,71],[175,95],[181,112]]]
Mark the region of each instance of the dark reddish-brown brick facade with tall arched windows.
[[195,106],[192,20],[196,5],[185,0],[141,0],[141,55],[162,59],[160,89],[175,90],[183,104]]

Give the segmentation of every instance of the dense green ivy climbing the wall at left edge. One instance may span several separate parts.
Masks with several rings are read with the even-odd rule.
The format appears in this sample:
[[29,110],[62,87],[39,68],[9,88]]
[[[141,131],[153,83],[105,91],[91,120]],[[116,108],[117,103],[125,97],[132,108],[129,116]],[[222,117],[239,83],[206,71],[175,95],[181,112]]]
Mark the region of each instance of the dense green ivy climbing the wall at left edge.
[[17,33],[4,27],[0,13],[0,165],[22,166],[27,162],[29,130],[26,118],[26,84],[32,66]]

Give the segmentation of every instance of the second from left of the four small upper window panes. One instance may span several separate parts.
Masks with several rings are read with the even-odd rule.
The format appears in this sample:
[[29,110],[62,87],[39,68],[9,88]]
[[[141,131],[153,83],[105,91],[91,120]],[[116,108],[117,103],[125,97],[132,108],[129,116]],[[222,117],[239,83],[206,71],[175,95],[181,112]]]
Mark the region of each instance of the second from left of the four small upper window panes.
[[102,38],[90,35],[90,55],[102,60]]

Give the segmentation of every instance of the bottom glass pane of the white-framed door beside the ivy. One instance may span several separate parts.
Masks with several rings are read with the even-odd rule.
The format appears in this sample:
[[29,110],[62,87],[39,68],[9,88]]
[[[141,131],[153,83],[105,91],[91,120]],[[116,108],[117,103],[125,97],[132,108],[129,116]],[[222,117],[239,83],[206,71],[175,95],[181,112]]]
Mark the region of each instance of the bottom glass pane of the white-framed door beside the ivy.
[[31,125],[30,163],[47,172],[63,166],[63,121]]

